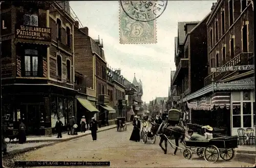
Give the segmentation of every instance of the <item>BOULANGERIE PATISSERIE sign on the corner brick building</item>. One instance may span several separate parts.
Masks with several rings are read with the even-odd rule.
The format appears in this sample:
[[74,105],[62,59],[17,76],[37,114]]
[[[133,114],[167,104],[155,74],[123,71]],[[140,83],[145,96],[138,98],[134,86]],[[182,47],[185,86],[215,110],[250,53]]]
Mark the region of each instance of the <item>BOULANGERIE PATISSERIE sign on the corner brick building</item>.
[[52,29],[48,27],[16,25],[15,37],[18,39],[52,41]]

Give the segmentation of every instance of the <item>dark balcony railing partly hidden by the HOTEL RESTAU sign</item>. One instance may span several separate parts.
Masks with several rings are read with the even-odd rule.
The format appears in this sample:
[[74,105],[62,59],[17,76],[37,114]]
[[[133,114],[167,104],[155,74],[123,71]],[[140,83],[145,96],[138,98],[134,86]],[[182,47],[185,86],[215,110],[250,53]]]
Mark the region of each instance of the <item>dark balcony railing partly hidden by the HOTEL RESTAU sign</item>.
[[[231,66],[240,66],[240,65],[254,65],[254,55],[252,52],[242,52],[230,61],[228,61],[226,64],[224,64],[222,67],[231,67]],[[209,85],[212,81],[218,82],[221,80],[224,76],[227,76],[231,74],[233,71],[227,71],[227,72],[214,72],[210,75],[208,75],[206,78],[204,78],[204,86]]]

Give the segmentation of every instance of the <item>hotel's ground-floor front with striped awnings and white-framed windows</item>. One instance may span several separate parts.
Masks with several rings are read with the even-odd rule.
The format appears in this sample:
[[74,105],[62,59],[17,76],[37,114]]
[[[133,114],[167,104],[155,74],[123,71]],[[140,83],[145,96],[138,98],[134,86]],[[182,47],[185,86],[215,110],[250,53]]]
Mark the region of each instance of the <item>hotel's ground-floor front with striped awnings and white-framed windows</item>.
[[234,135],[238,128],[253,127],[255,120],[253,90],[254,77],[214,83],[183,98],[183,102],[190,109],[191,123],[223,127],[226,128],[227,134]]

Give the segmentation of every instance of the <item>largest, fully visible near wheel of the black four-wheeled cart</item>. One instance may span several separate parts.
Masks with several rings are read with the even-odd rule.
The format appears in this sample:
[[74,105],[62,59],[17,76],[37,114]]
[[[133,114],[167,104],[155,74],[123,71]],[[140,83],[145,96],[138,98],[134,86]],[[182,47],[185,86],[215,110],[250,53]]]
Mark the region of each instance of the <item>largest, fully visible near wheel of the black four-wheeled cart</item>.
[[215,163],[219,160],[220,151],[214,145],[209,145],[204,150],[204,159],[209,163]]

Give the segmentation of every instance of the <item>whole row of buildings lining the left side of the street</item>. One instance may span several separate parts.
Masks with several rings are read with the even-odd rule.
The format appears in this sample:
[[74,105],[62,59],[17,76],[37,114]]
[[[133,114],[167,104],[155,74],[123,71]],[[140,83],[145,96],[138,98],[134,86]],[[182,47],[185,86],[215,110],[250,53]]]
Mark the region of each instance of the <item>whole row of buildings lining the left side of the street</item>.
[[142,82],[130,82],[105,61],[102,39],[92,39],[71,15],[69,2],[6,1],[1,4],[3,122],[15,134],[54,133],[95,117],[99,125],[142,114]]

